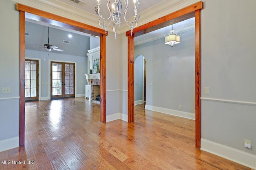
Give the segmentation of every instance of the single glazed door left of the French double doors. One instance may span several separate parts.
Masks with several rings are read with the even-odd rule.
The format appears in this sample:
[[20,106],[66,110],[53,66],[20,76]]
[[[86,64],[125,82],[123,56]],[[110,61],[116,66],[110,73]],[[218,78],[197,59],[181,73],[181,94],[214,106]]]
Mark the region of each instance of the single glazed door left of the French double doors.
[[38,60],[25,60],[25,101],[38,100]]

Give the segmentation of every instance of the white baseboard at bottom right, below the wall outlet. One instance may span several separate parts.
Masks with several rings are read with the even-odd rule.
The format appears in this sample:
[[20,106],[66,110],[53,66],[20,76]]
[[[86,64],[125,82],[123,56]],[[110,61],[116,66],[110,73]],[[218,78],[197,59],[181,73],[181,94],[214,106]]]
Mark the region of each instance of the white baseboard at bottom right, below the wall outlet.
[[249,168],[256,169],[256,155],[254,154],[208,141],[207,139],[201,139],[201,150],[210,152]]

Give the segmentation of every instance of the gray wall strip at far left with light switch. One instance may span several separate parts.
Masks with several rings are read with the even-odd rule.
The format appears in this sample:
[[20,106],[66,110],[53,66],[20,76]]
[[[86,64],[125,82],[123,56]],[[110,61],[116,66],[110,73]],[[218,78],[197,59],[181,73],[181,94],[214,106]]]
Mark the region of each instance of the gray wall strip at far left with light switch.
[[[15,7],[15,2],[0,0],[0,141],[19,136],[20,22]],[[2,94],[3,87],[11,93]]]

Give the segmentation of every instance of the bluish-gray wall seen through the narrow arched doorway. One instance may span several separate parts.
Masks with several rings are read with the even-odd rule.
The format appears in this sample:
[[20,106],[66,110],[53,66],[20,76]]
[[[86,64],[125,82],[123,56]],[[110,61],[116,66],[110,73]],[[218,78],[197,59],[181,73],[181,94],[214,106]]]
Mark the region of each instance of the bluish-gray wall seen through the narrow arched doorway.
[[134,100],[142,100],[142,88],[144,89],[143,80],[143,56],[139,55],[134,60]]

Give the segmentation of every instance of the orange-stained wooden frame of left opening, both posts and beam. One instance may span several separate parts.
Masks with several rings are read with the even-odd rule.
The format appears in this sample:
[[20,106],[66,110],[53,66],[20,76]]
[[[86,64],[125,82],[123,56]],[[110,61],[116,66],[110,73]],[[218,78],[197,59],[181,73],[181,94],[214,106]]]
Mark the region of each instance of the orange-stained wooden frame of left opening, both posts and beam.
[[[38,20],[50,22],[68,29],[74,29],[88,34],[100,37],[100,121],[106,122],[106,35],[105,30],[57,16],[42,10],[38,10],[22,4],[16,4],[16,10],[20,11],[20,127],[19,127],[19,145],[25,144],[25,13],[28,16],[37,16]],[[33,19],[33,18],[30,18]],[[47,20],[47,21],[46,21]],[[49,94],[50,95],[50,94]]]

